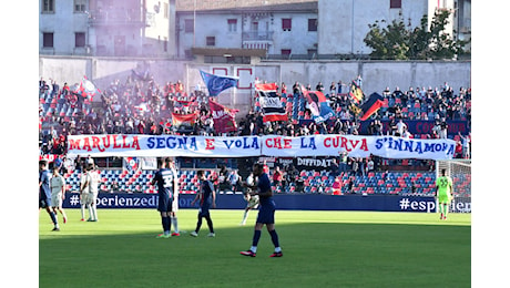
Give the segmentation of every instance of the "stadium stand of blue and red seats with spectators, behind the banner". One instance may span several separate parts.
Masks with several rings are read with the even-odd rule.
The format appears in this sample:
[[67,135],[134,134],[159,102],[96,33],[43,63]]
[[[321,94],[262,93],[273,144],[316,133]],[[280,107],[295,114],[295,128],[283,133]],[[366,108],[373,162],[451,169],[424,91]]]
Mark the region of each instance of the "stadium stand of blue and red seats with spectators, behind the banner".
[[[128,78],[124,83],[114,81],[100,95],[101,101],[91,101],[72,92],[67,84],[60,88],[58,83],[47,83],[43,79],[39,82],[39,146],[40,155],[53,155],[64,157],[67,136],[70,134],[183,134],[216,135],[214,128],[208,125],[211,117],[207,112],[207,101],[204,94],[186,94],[178,89],[177,82],[167,82],[159,85],[153,80],[142,81],[136,78]],[[458,93],[448,83],[441,89],[409,88],[407,91],[394,92],[386,88],[381,92],[384,105],[369,121],[389,122],[378,130],[380,134],[394,134],[391,120],[436,120],[435,127],[430,133],[415,134],[414,137],[434,138],[440,137],[440,125],[446,121],[467,121],[467,131],[470,131],[471,91],[460,88]],[[310,120],[305,97],[300,93],[282,93],[282,105],[288,113],[286,123],[263,123],[262,107],[257,97],[253,111],[238,121],[238,131],[232,135],[261,135],[276,134],[297,136],[313,133],[334,134],[359,134],[360,123],[353,115],[350,107],[353,101],[347,93],[327,94],[329,105],[335,111],[336,120],[328,124],[315,124]],[[191,105],[183,104],[193,103]],[[201,117],[193,131],[182,132],[172,126],[171,113],[192,113],[200,110]],[[370,124],[370,125],[371,125]],[[377,124],[377,123],[375,123]],[[436,128],[437,127],[437,128]],[[375,131],[369,134],[376,134]],[[447,135],[459,143],[467,135]],[[469,137],[470,145],[470,137]],[[460,153],[459,157],[469,157],[468,153]],[[361,162],[366,160],[360,160]],[[319,194],[330,193],[335,177],[339,177],[344,194],[420,194],[431,195],[435,191],[436,175],[431,165],[426,161],[416,160],[384,160],[374,157],[376,169],[371,172],[354,173],[351,163],[346,171],[308,171],[300,169],[298,177],[287,179],[284,185],[275,186],[274,192],[280,194],[305,193]],[[198,163],[198,164],[197,164]],[[230,169],[239,169],[243,178],[246,177],[244,165],[237,161],[222,158],[197,158],[196,162],[182,161],[180,182],[182,193],[195,193],[197,189],[196,167],[217,171],[221,165]],[[195,166],[196,165],[196,166]],[[416,169],[416,167],[421,167]],[[398,169],[396,169],[398,168]],[[242,173],[243,172],[243,173]],[[210,175],[207,171],[207,176]],[[78,191],[80,184],[80,169],[74,167],[64,174],[68,179],[68,189]],[[105,168],[101,171],[102,192],[126,193],[155,193],[150,185],[152,171],[128,171],[122,168]],[[272,175],[269,175],[272,176]],[[459,187],[470,189],[470,176],[456,179]],[[217,184],[217,183],[216,183]],[[228,191],[225,191],[228,193]]]

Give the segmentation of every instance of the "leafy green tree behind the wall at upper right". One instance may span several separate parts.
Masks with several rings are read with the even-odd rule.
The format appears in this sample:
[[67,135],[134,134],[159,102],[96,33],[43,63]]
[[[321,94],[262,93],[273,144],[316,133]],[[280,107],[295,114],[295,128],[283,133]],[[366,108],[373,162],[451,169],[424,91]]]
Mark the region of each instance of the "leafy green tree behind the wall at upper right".
[[436,11],[430,28],[427,16],[421,18],[420,25],[415,29],[407,29],[401,16],[384,28],[379,25],[384,20],[376,21],[368,24],[370,31],[364,41],[373,49],[373,59],[453,59],[465,53],[462,47],[469,41],[456,41],[445,31],[449,16],[448,10]]

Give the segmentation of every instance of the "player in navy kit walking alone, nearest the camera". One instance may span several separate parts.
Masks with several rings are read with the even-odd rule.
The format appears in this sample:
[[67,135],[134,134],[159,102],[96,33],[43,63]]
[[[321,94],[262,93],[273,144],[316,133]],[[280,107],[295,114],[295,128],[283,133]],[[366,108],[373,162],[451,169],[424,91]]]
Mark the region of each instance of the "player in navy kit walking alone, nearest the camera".
[[255,257],[257,253],[257,244],[261,239],[262,228],[266,225],[267,232],[271,235],[271,240],[275,246],[275,251],[269,257],[282,257],[282,248],[279,247],[278,234],[275,230],[275,209],[276,205],[273,200],[273,191],[271,189],[269,176],[264,172],[264,166],[259,163],[253,165],[253,175],[258,177],[256,186],[246,187],[252,189],[256,188],[256,192],[252,192],[252,195],[258,195],[259,206],[257,222],[255,223],[255,232],[253,234],[252,248],[246,251],[241,251],[241,255]]

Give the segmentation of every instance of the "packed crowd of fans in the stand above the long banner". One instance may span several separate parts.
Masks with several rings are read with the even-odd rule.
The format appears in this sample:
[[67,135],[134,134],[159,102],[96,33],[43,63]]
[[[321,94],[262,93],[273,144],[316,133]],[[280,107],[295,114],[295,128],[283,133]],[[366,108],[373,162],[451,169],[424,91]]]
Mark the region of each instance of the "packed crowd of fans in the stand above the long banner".
[[[359,86],[363,81],[358,76],[356,80]],[[296,82],[292,89],[287,89],[285,83],[278,85],[282,99],[292,101],[296,97],[303,99],[300,83]],[[307,89],[313,89],[309,84]],[[332,82],[328,90],[325,90],[319,82],[315,90],[322,91],[329,99],[329,105],[337,115],[328,122],[315,123],[313,121],[299,124],[299,121],[289,115],[286,122],[263,122],[263,112],[256,107],[252,109],[247,115],[237,121],[238,130],[230,135],[264,135],[280,134],[288,136],[310,135],[310,134],[360,134],[359,117],[353,113],[354,101],[349,96],[348,85],[338,81]],[[64,83],[62,88],[57,81],[48,83],[41,79],[39,81],[40,99],[40,153],[65,154],[67,136],[73,134],[194,134],[194,135],[217,135],[214,130],[214,121],[208,110],[208,97],[201,91],[186,93],[181,81],[166,82],[159,84],[153,78],[139,78],[135,73],[128,76],[124,82],[116,80],[112,82],[99,95],[100,105],[93,105],[92,100],[73,93],[72,89]],[[409,117],[408,113],[402,113],[407,109],[419,105],[426,109],[426,113],[416,113],[422,120],[428,120],[428,115],[434,114],[436,127],[427,137],[447,137],[448,120],[468,120],[470,127],[470,89],[460,88],[458,93],[445,83],[441,89],[409,88],[401,91],[398,86],[391,92],[386,88],[381,95],[387,106],[371,117],[368,134],[373,135],[397,135],[412,137],[407,131],[406,120],[415,120],[417,116]],[[72,115],[62,115],[51,109],[44,109],[44,104],[57,103],[65,105],[74,112]],[[306,101],[305,101],[306,102]],[[51,104],[53,105],[53,104]],[[307,104],[303,107],[305,115],[309,115]],[[198,113],[198,117],[192,130],[183,131],[172,125],[172,113],[190,114]],[[306,117],[305,117],[306,119]],[[308,117],[309,119],[309,117]],[[381,120],[390,120],[386,127]],[[457,137],[463,147],[468,138]],[[470,138],[469,138],[470,142]],[[466,156],[463,153],[460,156]]]

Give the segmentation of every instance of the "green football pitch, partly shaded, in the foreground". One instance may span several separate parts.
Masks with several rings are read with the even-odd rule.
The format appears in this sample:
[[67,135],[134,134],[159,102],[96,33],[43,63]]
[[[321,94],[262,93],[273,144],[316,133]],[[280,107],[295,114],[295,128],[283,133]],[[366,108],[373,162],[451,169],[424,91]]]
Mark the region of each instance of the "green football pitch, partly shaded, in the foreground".
[[[252,245],[256,210],[212,209],[216,237],[204,220],[191,237],[196,209],[181,209],[180,237],[156,239],[155,209],[99,209],[100,222],[80,222],[79,209],[51,232],[39,216],[40,287],[470,287],[471,215],[277,210],[284,257],[263,230]],[[88,215],[88,212],[86,212]]]

